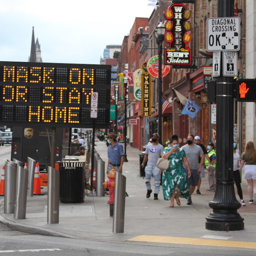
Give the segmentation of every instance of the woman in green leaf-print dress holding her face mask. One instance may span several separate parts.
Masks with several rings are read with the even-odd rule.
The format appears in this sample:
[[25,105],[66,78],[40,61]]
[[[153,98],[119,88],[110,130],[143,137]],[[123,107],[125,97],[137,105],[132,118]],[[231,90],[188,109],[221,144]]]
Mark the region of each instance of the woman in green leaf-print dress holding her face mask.
[[[183,149],[179,148],[177,135],[172,136],[171,147],[165,149],[163,158],[169,159],[170,161],[170,168],[163,171],[163,197],[164,200],[170,199],[170,207],[174,207],[174,198],[176,199],[178,205],[180,205],[179,195],[186,199],[189,198],[188,177],[186,177],[183,163],[188,169],[189,177],[191,175],[186,153]],[[177,192],[175,196],[176,187]]]

